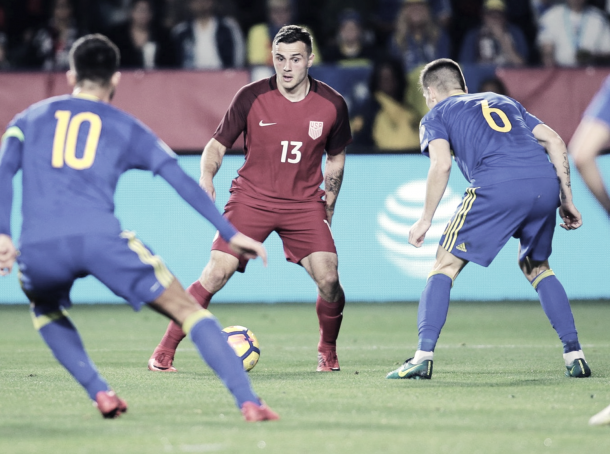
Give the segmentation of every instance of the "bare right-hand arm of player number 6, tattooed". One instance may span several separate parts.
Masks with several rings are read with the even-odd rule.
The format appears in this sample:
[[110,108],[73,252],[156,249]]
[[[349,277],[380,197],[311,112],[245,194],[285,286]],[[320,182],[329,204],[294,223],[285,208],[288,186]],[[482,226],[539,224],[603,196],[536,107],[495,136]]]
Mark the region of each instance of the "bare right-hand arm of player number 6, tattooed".
[[570,161],[565,143],[555,131],[540,123],[532,132],[538,142],[545,148],[559,179],[561,206],[559,214],[563,219],[562,228],[574,230],[582,225],[582,216],[572,201],[572,182],[570,179]]

